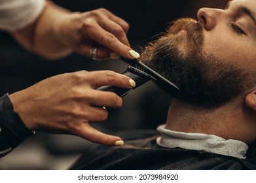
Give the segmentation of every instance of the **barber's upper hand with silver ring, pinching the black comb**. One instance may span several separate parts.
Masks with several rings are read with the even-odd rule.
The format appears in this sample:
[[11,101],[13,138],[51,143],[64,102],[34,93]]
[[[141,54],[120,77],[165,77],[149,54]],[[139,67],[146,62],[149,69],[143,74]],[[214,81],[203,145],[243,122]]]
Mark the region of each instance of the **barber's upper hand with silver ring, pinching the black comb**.
[[97,46],[96,59],[138,58],[126,37],[129,24],[105,8],[89,12],[74,12],[56,18],[53,33],[65,46],[84,56],[92,56]]

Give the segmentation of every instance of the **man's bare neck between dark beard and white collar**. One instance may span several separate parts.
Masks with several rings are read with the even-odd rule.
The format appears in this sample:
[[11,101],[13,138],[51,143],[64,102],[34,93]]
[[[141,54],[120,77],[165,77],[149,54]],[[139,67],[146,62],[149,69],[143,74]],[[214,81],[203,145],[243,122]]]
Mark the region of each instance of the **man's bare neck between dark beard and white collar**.
[[168,111],[166,128],[187,133],[205,133],[246,143],[256,140],[255,114],[242,101],[206,109],[174,99]]

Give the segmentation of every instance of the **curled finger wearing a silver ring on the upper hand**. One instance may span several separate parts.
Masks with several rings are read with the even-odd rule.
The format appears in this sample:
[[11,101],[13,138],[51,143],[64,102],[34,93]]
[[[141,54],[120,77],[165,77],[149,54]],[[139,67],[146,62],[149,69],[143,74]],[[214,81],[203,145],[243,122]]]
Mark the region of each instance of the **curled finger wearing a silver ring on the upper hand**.
[[[82,44],[79,44],[79,46],[77,46],[77,49],[75,51],[79,54],[82,54],[84,56],[91,58],[92,47],[93,47],[92,44],[82,43]],[[99,60],[120,58],[119,54],[116,54],[115,52],[105,48],[104,46],[98,46],[96,57]]]

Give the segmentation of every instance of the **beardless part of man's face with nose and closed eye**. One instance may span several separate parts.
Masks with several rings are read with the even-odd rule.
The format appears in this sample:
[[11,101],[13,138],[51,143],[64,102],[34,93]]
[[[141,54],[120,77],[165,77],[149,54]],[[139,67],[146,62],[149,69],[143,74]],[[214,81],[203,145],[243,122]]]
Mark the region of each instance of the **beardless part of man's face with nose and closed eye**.
[[229,1],[225,10],[202,8],[198,21],[204,51],[245,69],[256,69],[256,1]]

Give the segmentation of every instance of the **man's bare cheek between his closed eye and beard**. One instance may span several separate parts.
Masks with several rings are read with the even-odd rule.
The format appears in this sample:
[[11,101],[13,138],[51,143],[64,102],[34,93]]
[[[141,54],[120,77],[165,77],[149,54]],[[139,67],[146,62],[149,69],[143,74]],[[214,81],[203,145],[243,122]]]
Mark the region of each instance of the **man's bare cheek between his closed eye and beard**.
[[209,32],[205,33],[203,50],[206,54],[212,54],[220,61],[256,68],[254,47],[240,36],[234,39],[232,35]]

